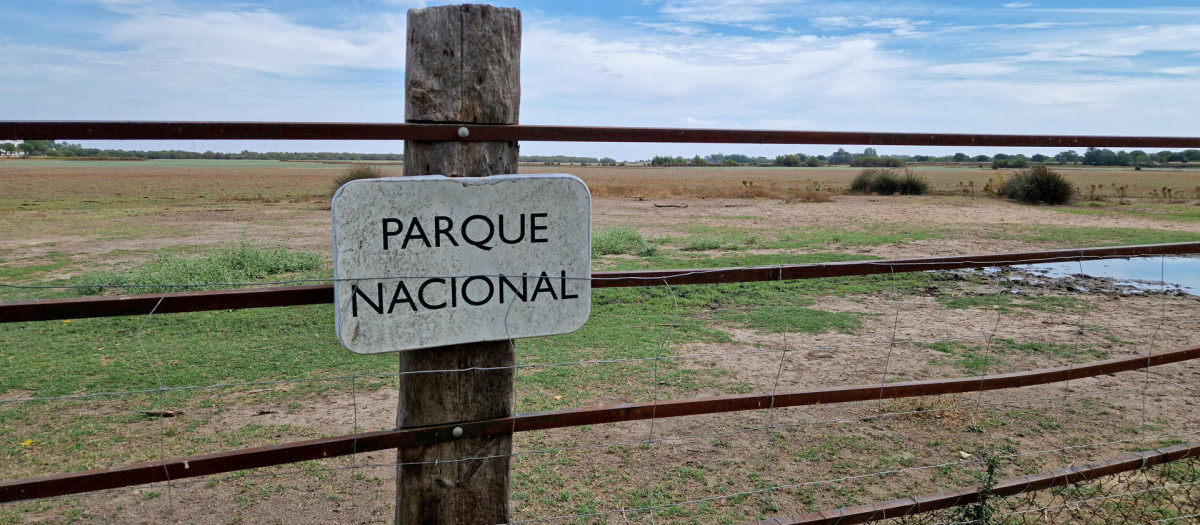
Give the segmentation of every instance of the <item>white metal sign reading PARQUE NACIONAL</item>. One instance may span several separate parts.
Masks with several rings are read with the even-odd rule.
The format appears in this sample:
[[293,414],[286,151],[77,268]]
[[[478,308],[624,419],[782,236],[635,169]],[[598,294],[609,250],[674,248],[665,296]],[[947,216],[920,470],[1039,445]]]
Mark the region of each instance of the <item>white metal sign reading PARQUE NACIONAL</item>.
[[568,333],[592,310],[592,195],[572,175],[362,179],[332,216],[353,352]]

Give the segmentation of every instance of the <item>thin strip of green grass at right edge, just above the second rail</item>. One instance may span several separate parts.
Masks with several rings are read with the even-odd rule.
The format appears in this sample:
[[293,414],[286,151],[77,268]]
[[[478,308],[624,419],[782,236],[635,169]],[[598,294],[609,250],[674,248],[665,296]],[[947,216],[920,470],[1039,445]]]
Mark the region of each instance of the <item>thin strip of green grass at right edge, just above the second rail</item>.
[[1200,235],[1188,231],[1165,231],[1144,228],[1092,228],[1092,227],[1004,227],[1003,231],[990,231],[990,239],[1027,242],[1049,242],[1070,247],[1157,245],[1164,242],[1200,241]]

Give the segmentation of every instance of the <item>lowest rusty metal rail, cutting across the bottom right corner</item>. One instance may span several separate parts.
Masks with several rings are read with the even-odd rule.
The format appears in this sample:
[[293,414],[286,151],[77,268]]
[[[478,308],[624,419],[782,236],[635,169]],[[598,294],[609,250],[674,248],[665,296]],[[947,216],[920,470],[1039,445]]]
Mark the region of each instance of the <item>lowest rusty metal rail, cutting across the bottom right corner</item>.
[[[1049,472],[1004,479],[991,489],[992,496],[1014,496],[1018,494],[1064,487],[1122,472],[1145,469],[1154,465],[1200,457],[1200,441],[1163,447],[1153,451],[1136,452],[1118,458],[1079,466],[1051,470]],[[876,503],[856,505],[853,507],[834,508],[786,518],[750,521],[743,525],[851,525],[883,519],[900,518],[923,512],[941,511],[979,502],[979,489],[967,487],[944,490],[936,494],[901,497]]]

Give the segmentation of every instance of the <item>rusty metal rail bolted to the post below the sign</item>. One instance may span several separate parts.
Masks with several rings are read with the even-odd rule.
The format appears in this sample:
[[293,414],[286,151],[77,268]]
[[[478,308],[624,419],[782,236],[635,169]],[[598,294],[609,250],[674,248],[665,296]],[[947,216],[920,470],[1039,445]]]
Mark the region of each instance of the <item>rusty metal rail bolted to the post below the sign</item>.
[[[313,459],[334,458],[397,447],[431,445],[461,437],[482,437],[518,432],[618,423],[652,418],[697,416],[745,410],[834,403],[874,402],[924,396],[986,392],[1034,385],[1073,381],[1120,372],[1178,363],[1200,358],[1200,346],[1148,356],[1097,361],[1086,364],[1049,368],[977,378],[938,379],[887,385],[845,386],[788,393],[757,393],[709,399],[677,399],[616,406],[586,408],[556,412],[527,414],[515,417],[422,428],[382,430],[299,441],[284,445],[245,448],[190,455],[127,466],[95,469],[83,472],[0,482],[0,502],[53,497],[95,490],[132,487],[173,479],[209,476],[238,470],[283,465]],[[455,430],[461,429],[458,435]]]

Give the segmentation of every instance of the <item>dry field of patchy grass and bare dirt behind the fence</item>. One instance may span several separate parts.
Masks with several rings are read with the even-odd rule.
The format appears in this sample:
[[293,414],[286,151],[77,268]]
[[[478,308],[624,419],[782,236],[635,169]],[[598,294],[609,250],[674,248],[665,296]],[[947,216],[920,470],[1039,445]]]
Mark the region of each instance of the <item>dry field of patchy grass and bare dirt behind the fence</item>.
[[[341,169],[0,162],[0,284],[73,283],[242,237],[328,260]],[[580,176],[598,231],[632,229],[653,248],[598,257],[598,268],[1200,240],[1190,171],[1069,169],[1085,192],[1104,186],[1104,200],[1039,209],[983,197],[998,175],[986,168],[923,170],[931,197],[841,194],[852,169],[522,170]],[[971,376],[1200,343],[1194,296],[942,272],[598,294],[578,333],[517,343],[527,368],[515,402],[529,412]],[[0,289],[4,300],[29,294]],[[389,428],[395,358],[340,350],[331,316],[320,306],[0,325],[2,478]],[[1084,464],[1195,440],[1198,379],[1200,366],[1182,363],[984,394],[520,434],[514,519],[737,523],[978,483],[984,454],[1008,454],[1001,477]],[[212,387],[241,382],[252,385]],[[23,400],[64,394],[84,397]],[[0,524],[389,521],[392,460],[19,502],[0,506]]]

